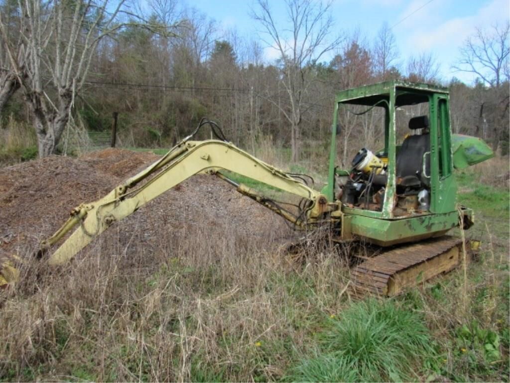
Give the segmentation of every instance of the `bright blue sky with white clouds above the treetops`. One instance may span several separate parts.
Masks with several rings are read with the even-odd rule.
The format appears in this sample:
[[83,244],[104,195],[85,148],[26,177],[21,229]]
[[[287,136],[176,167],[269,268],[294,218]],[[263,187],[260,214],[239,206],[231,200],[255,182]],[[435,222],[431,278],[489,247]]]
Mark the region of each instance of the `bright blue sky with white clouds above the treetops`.
[[[256,37],[260,29],[249,17],[252,4],[252,0],[187,0],[189,7],[214,18],[223,30],[236,29],[244,37]],[[272,0],[270,5],[276,11],[278,23],[284,26],[283,1]],[[423,8],[412,14],[420,7]],[[392,31],[402,61],[410,55],[431,53],[440,63],[444,80],[456,76],[467,83],[474,77],[451,69],[459,47],[475,27],[487,28],[494,22],[502,24],[510,12],[508,0],[334,0],[332,10],[338,32],[351,32],[359,27],[371,41],[386,21],[394,26]],[[265,53],[270,60],[273,53],[269,47]]]

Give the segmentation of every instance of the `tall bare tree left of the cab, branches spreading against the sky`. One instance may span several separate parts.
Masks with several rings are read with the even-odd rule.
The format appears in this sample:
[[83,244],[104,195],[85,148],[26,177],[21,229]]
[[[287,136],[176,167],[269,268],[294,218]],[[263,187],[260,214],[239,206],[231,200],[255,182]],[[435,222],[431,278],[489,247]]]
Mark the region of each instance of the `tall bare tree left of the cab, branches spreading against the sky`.
[[326,52],[337,47],[340,37],[329,39],[335,28],[331,17],[331,3],[312,0],[285,0],[289,27],[279,25],[267,0],[257,0],[251,16],[262,26],[263,41],[278,52],[279,77],[289,100],[289,107],[281,105],[274,95],[267,95],[291,125],[292,161],[299,158],[301,147],[302,107],[305,95],[314,81],[311,64]]

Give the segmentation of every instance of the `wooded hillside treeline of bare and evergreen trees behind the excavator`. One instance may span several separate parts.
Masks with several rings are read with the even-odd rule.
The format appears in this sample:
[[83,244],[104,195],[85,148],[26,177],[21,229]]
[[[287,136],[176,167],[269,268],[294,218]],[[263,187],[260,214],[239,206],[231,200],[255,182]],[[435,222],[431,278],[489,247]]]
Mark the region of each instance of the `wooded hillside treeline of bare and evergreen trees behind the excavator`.
[[[31,124],[40,156],[59,151],[66,128],[109,131],[118,112],[126,146],[172,145],[207,116],[236,145],[254,150],[269,138],[297,160],[328,141],[335,92],[391,79],[449,87],[453,131],[508,154],[507,24],[480,26],[460,48],[454,65],[478,78],[467,85],[441,78],[433,52],[402,57],[387,23],[376,36],[361,29],[335,35],[340,29],[329,5],[311,0],[286,1],[294,21],[317,20],[301,29],[293,23],[295,36],[315,36],[297,47],[282,37],[284,27],[264,0],[251,10],[261,35],[250,37],[162,0],[129,13],[124,3],[108,1],[0,4],[0,130],[13,121]],[[278,59],[266,59],[265,42]],[[350,140],[352,150],[376,145],[379,129],[375,123],[345,129],[342,162]]]

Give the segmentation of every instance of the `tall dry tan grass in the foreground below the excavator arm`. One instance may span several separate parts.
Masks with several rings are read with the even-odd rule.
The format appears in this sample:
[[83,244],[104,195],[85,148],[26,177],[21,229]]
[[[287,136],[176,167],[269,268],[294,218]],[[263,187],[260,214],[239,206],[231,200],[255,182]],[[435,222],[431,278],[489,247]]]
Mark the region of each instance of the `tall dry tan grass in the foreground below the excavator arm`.
[[151,254],[97,243],[38,279],[24,270],[0,310],[0,376],[278,379],[338,312],[348,276],[333,252],[297,265],[257,248],[201,228]]

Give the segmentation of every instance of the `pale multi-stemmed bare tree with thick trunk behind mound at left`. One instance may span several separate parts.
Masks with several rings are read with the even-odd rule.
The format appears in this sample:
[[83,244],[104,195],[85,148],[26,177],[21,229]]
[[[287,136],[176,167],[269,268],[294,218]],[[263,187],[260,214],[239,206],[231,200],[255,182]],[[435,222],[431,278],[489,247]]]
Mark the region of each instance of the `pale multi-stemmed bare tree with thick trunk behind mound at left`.
[[[32,111],[39,156],[44,157],[56,152],[98,43],[126,26],[117,19],[124,0],[24,0],[19,7],[27,60],[23,67],[8,46],[9,59]],[[4,44],[9,41],[2,16],[0,36]]]

